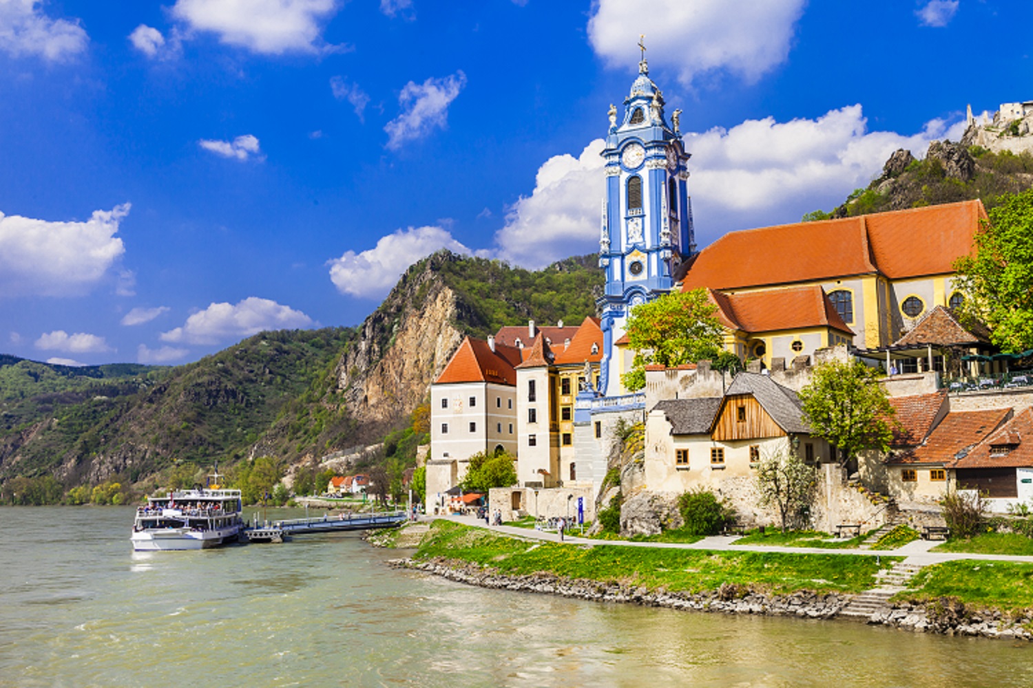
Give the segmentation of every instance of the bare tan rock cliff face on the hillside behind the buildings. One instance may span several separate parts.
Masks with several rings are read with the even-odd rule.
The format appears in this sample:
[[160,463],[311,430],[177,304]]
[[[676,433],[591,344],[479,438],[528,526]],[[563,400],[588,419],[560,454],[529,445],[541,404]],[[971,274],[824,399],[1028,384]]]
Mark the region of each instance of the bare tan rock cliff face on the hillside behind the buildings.
[[338,387],[359,424],[386,426],[427,396],[463,333],[456,294],[440,279],[443,252],[406,272],[337,366]]

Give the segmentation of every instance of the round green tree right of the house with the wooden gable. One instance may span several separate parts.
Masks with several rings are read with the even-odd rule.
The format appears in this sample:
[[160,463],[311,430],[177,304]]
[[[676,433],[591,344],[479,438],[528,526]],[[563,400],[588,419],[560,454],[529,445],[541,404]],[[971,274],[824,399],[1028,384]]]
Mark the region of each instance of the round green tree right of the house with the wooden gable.
[[811,384],[800,391],[811,434],[835,445],[841,464],[865,450],[889,449],[894,407],[878,376],[858,361],[829,361],[817,366]]

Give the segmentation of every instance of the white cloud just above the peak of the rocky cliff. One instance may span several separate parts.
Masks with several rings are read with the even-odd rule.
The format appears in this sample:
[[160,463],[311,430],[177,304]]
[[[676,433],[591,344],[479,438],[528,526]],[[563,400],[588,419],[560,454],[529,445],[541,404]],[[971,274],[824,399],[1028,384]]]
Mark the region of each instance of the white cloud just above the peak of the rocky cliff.
[[409,227],[380,237],[373,249],[358,254],[346,251],[340,258],[330,261],[330,279],[342,294],[380,298],[390,291],[410,265],[439,249],[470,253],[446,229]]

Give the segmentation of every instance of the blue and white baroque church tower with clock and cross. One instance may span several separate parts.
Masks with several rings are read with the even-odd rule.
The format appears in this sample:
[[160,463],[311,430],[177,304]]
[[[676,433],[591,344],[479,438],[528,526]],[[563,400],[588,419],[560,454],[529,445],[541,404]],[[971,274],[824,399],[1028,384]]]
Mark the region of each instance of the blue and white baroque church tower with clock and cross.
[[[606,289],[599,298],[603,359],[599,392],[624,393],[620,373],[630,367],[617,341],[624,335],[628,310],[670,291],[678,266],[695,253],[692,206],[688,192],[689,154],[679,131],[676,109],[670,123],[663,94],[649,77],[645,47],[638,76],[624,99],[618,123],[609,106],[606,195],[602,202],[599,265]],[[627,354],[630,356],[630,353]]]

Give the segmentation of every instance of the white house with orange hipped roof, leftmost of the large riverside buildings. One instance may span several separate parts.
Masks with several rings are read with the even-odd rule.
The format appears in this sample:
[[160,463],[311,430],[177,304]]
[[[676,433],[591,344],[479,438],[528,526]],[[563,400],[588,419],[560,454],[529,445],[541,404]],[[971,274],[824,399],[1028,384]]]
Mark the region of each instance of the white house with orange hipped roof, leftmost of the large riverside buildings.
[[[445,510],[479,452],[516,454],[516,372],[521,349],[466,337],[431,385],[427,509]],[[435,512],[436,513],[436,512]]]

